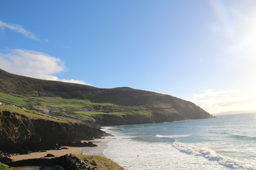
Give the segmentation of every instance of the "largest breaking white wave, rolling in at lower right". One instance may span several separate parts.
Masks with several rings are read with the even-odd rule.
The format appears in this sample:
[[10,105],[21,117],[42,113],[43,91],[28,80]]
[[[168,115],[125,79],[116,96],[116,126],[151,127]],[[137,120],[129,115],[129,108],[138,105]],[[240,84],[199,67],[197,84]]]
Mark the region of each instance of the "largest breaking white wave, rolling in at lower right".
[[239,162],[237,160],[224,157],[220,154],[217,154],[212,149],[200,148],[192,145],[186,145],[180,142],[174,142],[173,147],[178,149],[179,152],[185,154],[192,154],[196,157],[204,157],[209,161],[218,162],[222,166],[226,166],[230,169],[247,169],[247,170],[256,170],[255,166],[249,165],[247,163]]

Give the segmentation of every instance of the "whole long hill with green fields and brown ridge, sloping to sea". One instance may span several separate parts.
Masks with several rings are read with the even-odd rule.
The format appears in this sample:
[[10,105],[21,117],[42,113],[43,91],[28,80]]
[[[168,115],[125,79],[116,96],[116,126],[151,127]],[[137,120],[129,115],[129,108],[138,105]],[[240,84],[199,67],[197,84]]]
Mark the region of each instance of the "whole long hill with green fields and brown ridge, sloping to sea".
[[[0,69],[0,102],[36,106],[58,118],[99,125],[161,123],[211,118],[194,103],[169,95],[127,87],[98,89],[81,84],[47,81],[10,74]],[[9,99],[6,96],[9,95]],[[2,96],[2,97],[1,97]]]

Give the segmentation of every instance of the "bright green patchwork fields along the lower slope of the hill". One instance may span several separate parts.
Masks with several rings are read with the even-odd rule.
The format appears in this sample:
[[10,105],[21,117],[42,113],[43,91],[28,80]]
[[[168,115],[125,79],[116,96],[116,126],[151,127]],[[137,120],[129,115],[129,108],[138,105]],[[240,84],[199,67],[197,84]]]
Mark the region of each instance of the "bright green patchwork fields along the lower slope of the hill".
[[92,115],[148,115],[139,106],[119,106],[113,103],[92,103],[87,99],[32,97],[0,92],[0,110],[22,113],[33,118],[55,121],[92,120]]

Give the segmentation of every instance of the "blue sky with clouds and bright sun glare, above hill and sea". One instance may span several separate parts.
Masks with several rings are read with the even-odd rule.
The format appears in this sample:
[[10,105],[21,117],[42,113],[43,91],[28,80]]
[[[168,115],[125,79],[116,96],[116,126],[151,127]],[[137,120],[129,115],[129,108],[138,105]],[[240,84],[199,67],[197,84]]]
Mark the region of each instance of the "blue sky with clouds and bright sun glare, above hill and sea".
[[254,0],[0,0],[0,69],[256,111]]

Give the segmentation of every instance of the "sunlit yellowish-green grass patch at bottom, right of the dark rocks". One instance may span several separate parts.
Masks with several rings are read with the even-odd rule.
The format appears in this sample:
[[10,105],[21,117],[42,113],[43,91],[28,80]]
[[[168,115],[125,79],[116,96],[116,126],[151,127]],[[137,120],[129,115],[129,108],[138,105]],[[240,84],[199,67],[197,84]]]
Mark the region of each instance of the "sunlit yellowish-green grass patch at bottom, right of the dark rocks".
[[88,162],[89,166],[91,166],[92,168],[96,167],[97,169],[102,170],[124,170],[122,166],[119,166],[119,164],[112,162],[112,160],[105,157],[87,156],[80,154],[76,154],[75,156]]

